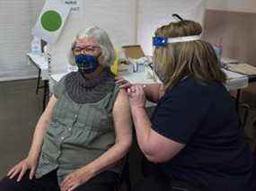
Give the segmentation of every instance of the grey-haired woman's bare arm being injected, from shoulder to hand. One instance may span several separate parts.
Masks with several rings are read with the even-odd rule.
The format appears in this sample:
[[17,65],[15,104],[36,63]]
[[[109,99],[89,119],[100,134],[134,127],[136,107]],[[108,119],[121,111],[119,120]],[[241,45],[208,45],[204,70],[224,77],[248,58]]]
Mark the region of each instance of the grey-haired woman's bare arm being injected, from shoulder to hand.
[[116,142],[102,156],[87,164],[81,169],[66,176],[61,183],[61,190],[74,190],[75,187],[83,184],[90,178],[116,164],[127,153],[132,143],[131,116],[128,103],[128,96],[125,91],[120,90],[114,103],[113,110],[114,128]]

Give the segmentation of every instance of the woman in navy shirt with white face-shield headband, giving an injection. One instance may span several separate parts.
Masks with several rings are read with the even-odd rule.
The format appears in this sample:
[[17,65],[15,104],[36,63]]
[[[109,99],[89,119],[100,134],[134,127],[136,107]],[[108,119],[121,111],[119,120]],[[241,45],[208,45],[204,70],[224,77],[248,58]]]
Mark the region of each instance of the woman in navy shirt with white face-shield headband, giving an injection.
[[[183,20],[156,30],[154,66],[163,85],[124,85],[137,143],[158,170],[136,190],[256,190],[255,159],[201,31]],[[157,102],[151,120],[145,97]]]

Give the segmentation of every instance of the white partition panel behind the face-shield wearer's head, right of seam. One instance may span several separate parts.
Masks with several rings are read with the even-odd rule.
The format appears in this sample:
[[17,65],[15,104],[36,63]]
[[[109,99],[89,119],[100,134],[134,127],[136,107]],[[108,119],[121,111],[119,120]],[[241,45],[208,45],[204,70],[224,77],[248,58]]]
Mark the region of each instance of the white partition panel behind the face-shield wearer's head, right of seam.
[[138,0],[137,42],[146,55],[152,55],[154,30],[172,22],[172,13],[202,23],[205,3],[205,0]]

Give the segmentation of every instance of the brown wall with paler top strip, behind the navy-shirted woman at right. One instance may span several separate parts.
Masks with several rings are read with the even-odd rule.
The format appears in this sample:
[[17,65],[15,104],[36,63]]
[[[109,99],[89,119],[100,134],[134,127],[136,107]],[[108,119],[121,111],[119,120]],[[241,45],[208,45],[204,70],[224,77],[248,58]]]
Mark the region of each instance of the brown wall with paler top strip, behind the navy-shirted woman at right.
[[208,0],[204,39],[223,39],[223,56],[256,65],[256,1]]

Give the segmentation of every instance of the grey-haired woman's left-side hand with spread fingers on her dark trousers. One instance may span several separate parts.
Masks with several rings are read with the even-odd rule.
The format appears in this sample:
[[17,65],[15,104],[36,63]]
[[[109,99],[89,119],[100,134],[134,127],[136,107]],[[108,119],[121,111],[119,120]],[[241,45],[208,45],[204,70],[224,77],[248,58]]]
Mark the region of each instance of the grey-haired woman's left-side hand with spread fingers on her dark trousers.
[[28,169],[30,169],[30,179],[32,179],[36,173],[38,162],[37,160],[32,160],[30,158],[26,158],[22,160],[20,163],[15,165],[12,169],[7,173],[8,178],[14,178],[18,176],[17,182],[21,181],[22,177],[26,173]]

